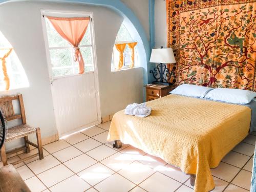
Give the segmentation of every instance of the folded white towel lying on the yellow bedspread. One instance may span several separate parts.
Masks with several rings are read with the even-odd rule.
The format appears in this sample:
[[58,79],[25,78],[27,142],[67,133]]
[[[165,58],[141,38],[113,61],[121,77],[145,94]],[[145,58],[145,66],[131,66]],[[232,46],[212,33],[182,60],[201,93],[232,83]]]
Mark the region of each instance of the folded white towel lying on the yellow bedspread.
[[126,115],[135,115],[137,117],[147,117],[151,114],[151,108],[148,108],[146,103],[133,103],[126,106],[124,113]]

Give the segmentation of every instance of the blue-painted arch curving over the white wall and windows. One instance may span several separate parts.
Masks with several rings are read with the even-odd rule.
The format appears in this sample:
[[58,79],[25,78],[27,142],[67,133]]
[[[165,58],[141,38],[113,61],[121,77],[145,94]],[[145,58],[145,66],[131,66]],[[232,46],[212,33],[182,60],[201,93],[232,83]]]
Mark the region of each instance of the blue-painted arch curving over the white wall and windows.
[[[14,2],[15,0],[0,0],[0,5],[3,3],[8,2]],[[25,1],[25,0],[20,0]],[[84,3],[84,4],[91,4],[91,5],[99,5],[108,7],[110,9],[113,9],[117,11],[119,14],[121,14],[124,18],[124,23],[126,25],[129,25],[130,28],[133,30],[132,32],[136,34],[136,39],[138,39],[139,46],[143,46],[144,49],[140,49],[140,52],[138,54],[141,55],[140,62],[143,66],[143,82],[144,84],[148,83],[148,77],[149,73],[147,73],[148,69],[150,69],[149,65],[149,58],[150,58],[150,44],[147,40],[147,36],[145,33],[145,30],[143,29],[139,19],[137,16],[133,13],[133,11],[128,8],[124,3],[122,3],[120,0],[116,1],[107,1],[107,0],[59,0],[59,1],[49,1],[49,2],[69,2],[69,3]]]

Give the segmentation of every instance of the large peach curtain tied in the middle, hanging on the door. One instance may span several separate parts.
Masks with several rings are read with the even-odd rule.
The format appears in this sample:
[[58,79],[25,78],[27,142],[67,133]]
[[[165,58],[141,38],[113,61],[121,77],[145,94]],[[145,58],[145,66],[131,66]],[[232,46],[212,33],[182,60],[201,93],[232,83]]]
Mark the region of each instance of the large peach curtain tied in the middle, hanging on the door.
[[90,17],[47,17],[59,35],[73,46],[74,61],[79,64],[79,74],[84,72],[84,61],[79,49],[79,44],[86,33]]

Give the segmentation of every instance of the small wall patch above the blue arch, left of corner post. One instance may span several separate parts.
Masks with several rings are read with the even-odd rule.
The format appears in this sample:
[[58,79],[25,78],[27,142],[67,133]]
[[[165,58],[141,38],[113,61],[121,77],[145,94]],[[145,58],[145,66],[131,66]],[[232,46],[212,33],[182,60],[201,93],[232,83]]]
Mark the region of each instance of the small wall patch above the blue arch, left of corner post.
[[127,7],[132,9],[139,18],[141,25],[146,31],[148,40],[150,39],[150,20],[148,17],[148,0],[121,0]]

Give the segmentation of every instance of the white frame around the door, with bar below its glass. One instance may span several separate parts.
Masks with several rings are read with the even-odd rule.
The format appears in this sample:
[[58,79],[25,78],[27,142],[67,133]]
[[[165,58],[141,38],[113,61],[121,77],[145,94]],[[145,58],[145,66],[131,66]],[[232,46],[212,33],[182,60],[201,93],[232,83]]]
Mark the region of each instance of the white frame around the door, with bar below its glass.
[[[94,66],[94,87],[95,87],[95,97],[96,97],[96,105],[97,105],[97,117],[98,120],[96,121],[96,124],[88,124],[89,127],[93,125],[97,125],[101,123],[101,110],[100,110],[100,98],[99,98],[99,77],[98,77],[98,63],[97,63],[97,54],[96,54],[96,42],[95,42],[95,30],[94,30],[94,21],[93,21],[93,12],[81,12],[81,11],[68,11],[68,10],[49,10],[49,9],[40,9],[40,17],[41,17],[41,23],[42,23],[42,32],[44,36],[44,42],[45,42],[45,48],[46,48],[46,58],[47,58],[47,67],[48,67],[48,75],[49,75],[49,82],[50,82],[50,87],[51,87],[51,96],[52,96],[52,102],[53,101],[53,81],[54,79],[52,78],[52,66],[51,66],[51,57],[50,57],[50,51],[49,51],[49,42],[48,42],[48,36],[47,36],[47,28],[46,28],[46,21],[45,17],[42,15],[51,15],[51,16],[60,16],[60,15],[74,15],[76,17],[82,17],[82,16],[90,16],[90,32],[91,32],[91,41],[92,41],[92,52],[93,52],[93,66]],[[84,72],[83,74],[77,74],[77,75],[85,75],[87,73],[92,73],[92,72]],[[70,75],[73,76],[73,75]],[[70,76],[63,76],[61,78],[67,78]],[[55,79],[57,80],[57,79]],[[54,110],[54,104],[53,104],[53,110]],[[55,110],[54,110],[55,111]],[[55,113],[54,113],[55,115]],[[55,122],[56,122],[56,128],[57,132],[59,135],[59,130],[58,130],[58,125],[56,121],[56,115],[55,115]],[[74,132],[77,132],[79,130],[84,129],[84,126],[77,127],[74,129]],[[72,131],[71,131],[72,132]],[[65,133],[69,134],[69,132]]]

